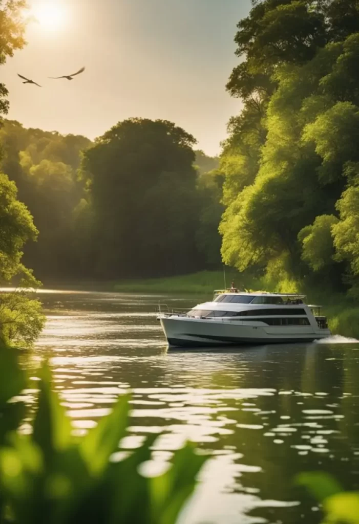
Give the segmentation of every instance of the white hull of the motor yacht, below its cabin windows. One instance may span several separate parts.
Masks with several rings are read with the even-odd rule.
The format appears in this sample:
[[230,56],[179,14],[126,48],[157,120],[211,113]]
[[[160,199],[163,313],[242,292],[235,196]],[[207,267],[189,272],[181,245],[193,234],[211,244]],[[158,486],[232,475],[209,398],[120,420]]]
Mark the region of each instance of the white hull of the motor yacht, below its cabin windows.
[[219,347],[313,342],[331,335],[328,329],[310,326],[260,326],[245,322],[219,322],[160,316],[171,347]]

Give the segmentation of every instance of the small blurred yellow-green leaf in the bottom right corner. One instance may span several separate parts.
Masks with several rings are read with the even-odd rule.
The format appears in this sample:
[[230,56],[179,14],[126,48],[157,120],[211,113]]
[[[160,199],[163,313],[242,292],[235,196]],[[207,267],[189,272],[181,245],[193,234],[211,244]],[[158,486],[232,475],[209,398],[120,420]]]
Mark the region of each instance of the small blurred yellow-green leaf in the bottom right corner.
[[328,524],[359,524],[359,493],[339,493],[324,500]]

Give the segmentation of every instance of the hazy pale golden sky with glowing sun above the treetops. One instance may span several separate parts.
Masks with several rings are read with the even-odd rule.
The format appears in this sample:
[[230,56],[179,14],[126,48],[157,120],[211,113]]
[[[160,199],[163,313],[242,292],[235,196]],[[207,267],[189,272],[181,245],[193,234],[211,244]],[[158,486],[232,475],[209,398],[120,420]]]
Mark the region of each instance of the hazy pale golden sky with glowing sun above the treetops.
[[[124,118],[164,118],[215,155],[241,109],[225,84],[250,0],[29,0],[39,22],[2,66],[9,118],[95,138]],[[73,81],[49,80],[86,71]],[[16,73],[41,84],[23,85]]]

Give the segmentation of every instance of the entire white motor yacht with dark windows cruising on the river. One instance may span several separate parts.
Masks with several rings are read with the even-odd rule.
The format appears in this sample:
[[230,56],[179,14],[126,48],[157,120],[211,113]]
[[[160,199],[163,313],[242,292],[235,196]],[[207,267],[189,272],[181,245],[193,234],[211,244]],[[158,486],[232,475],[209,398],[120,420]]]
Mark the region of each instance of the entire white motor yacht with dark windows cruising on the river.
[[313,342],[331,335],[321,306],[293,293],[214,292],[187,313],[161,313],[169,346],[199,347]]

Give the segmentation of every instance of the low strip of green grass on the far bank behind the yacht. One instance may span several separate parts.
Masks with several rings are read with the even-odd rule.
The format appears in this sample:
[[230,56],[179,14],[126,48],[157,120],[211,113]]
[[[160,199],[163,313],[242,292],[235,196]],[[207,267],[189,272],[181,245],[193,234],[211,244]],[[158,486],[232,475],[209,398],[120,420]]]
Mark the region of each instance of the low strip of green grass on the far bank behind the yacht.
[[[226,270],[226,285],[235,280],[240,285],[240,275],[235,270]],[[223,271],[200,271],[192,275],[178,277],[151,278],[148,280],[122,280],[116,282],[114,291],[125,293],[212,293],[214,289],[223,289]]]

